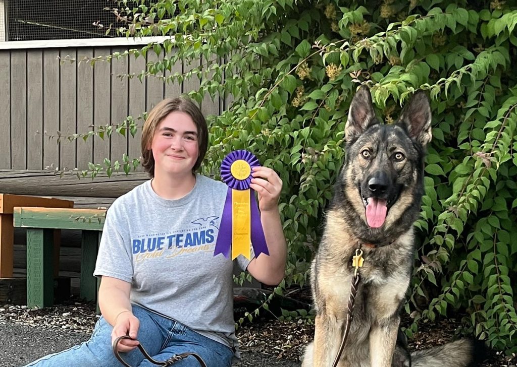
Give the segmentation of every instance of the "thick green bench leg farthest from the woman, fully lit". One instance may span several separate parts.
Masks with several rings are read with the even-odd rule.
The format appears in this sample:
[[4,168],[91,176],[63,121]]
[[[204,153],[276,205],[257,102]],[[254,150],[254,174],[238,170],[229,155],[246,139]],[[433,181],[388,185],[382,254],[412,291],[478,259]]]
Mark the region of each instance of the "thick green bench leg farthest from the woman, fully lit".
[[27,229],[27,307],[54,304],[54,231]]

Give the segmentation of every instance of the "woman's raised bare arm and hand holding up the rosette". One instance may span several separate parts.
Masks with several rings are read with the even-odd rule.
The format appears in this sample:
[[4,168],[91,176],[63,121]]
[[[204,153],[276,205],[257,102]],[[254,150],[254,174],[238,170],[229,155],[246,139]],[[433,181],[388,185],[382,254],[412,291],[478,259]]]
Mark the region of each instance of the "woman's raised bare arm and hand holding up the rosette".
[[284,277],[287,260],[287,245],[278,211],[282,180],[275,171],[267,167],[253,168],[252,175],[250,187],[258,194],[258,206],[269,256],[261,254],[251,260],[248,272],[262,283],[277,285]]

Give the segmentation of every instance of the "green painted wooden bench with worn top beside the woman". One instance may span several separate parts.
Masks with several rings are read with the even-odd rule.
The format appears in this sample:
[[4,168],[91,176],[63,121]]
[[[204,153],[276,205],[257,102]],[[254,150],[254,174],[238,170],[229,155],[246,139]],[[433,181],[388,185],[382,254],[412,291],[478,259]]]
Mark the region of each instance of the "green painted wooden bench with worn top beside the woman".
[[49,307],[54,302],[55,229],[81,230],[80,296],[97,299],[93,276],[104,226],[105,209],[58,209],[18,206],[13,210],[14,227],[27,230],[27,306]]

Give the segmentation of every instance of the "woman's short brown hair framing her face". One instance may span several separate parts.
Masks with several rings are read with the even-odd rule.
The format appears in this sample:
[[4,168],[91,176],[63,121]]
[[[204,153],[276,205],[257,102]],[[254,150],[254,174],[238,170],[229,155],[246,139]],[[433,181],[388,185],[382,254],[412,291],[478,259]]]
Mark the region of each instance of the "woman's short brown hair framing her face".
[[192,172],[195,172],[201,166],[201,162],[203,162],[203,158],[205,157],[208,147],[208,127],[206,126],[203,113],[199,107],[188,98],[166,98],[151,109],[145,120],[142,132],[142,166],[145,171],[149,173],[150,177],[155,176],[155,158],[153,157],[153,151],[148,149],[148,147],[153,142],[153,137],[155,136],[158,125],[166,116],[174,111],[181,111],[190,115],[197,128],[199,156],[192,168]]

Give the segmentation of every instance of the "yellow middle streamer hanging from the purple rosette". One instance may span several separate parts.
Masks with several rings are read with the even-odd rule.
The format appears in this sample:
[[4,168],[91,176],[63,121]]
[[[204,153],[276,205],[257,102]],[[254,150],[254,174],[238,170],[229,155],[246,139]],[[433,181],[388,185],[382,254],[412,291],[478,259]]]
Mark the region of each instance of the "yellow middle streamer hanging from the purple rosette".
[[232,189],[232,260],[242,255],[251,258],[250,190]]

